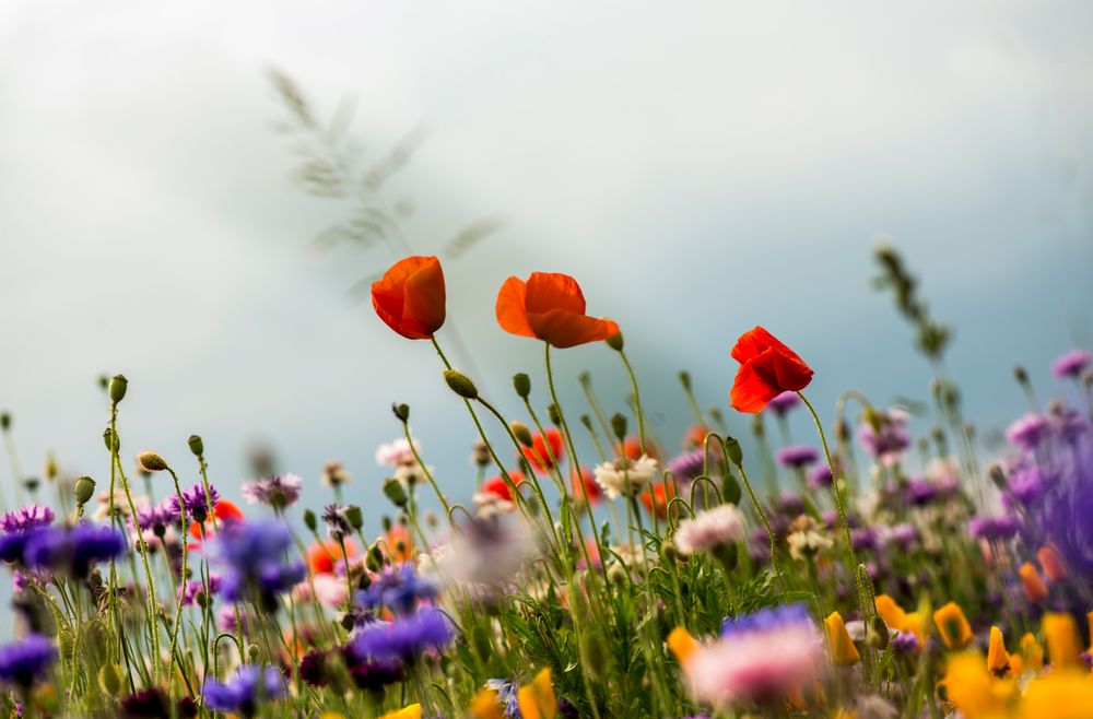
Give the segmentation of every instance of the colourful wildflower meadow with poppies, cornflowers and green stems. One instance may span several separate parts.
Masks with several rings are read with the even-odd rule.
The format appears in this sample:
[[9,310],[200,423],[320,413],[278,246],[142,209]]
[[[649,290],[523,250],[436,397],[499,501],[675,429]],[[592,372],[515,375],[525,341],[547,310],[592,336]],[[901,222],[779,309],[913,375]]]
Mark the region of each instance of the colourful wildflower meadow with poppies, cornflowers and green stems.
[[[505,416],[447,358],[435,257],[396,262],[372,303],[402,351],[436,356],[466,465],[431,464],[413,408],[395,403],[374,476],[338,462],[220,476],[199,436],[169,460],[130,446],[126,398],[142,388],[104,380],[98,473],[2,487],[15,618],[0,711],[1093,717],[1091,355],[1060,347],[1049,388],[1018,367],[1027,412],[988,451],[945,370],[952,331],[894,249],[875,258],[933,368],[920,436],[905,408],[850,388],[813,404],[825,380],[809,347],[762,316],[724,329],[731,387],[697,398],[681,372],[693,424],[655,433],[624,333],[599,316],[611,308],[589,314],[576,279],[542,272],[496,295],[500,327],[543,360],[512,378],[524,411]],[[559,402],[552,360],[578,345],[618,357],[626,406],[587,374],[586,402]],[[728,434],[730,413],[747,436]],[[813,433],[791,438],[792,414]],[[13,458],[11,426],[5,413]],[[445,493],[442,473],[463,479]],[[325,505],[302,506],[319,482]],[[387,505],[355,502],[362,482]]]

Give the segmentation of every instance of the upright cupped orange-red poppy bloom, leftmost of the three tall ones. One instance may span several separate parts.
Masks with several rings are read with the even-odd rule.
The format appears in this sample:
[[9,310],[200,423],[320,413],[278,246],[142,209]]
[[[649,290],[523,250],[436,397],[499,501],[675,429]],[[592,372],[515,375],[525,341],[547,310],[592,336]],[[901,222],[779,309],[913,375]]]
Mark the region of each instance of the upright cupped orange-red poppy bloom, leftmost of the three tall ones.
[[399,260],[372,283],[379,319],[411,340],[432,340],[444,325],[444,270],[435,257]]

